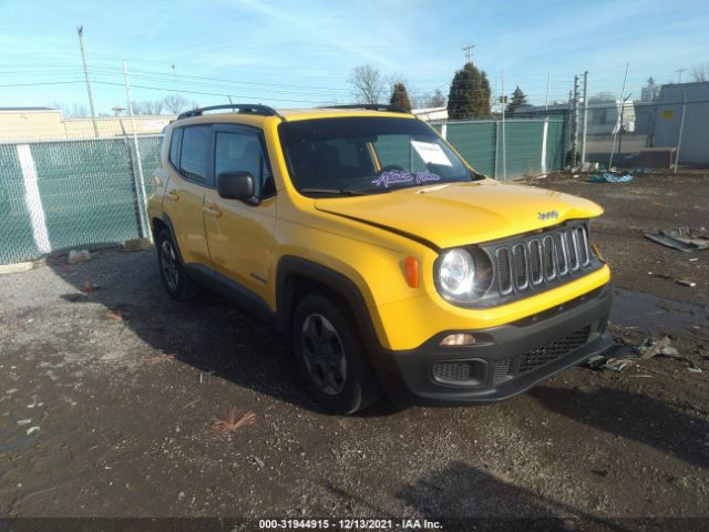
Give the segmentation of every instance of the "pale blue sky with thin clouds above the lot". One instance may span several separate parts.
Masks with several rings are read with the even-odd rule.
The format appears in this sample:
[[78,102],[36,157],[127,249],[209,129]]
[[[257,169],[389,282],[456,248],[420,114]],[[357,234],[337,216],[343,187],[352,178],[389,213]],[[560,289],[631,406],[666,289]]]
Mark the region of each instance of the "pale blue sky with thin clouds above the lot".
[[592,94],[619,93],[629,62],[626,94],[635,98],[648,75],[676,81],[674,71],[686,68],[689,80],[692,66],[709,62],[709,2],[699,0],[0,0],[0,106],[86,103],[79,24],[100,112],[125,104],[123,57],[136,101],[176,85],[203,105],[232,94],[275,106],[350,102],[348,74],[363,63],[405,79],[412,93],[448,94],[469,42],[493,89],[504,71],[505,92],[518,84],[533,103],[544,103],[547,72],[551,100],[566,99],[584,70]]

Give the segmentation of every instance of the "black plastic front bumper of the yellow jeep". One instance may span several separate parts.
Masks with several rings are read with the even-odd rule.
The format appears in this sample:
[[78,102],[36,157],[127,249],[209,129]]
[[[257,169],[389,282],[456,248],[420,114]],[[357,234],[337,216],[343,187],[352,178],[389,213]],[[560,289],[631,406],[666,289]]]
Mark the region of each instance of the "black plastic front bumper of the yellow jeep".
[[[518,321],[479,330],[446,330],[419,348],[380,349],[377,367],[394,402],[470,405],[500,401],[528,390],[613,344],[606,330],[610,284]],[[442,347],[451,332],[475,344]]]

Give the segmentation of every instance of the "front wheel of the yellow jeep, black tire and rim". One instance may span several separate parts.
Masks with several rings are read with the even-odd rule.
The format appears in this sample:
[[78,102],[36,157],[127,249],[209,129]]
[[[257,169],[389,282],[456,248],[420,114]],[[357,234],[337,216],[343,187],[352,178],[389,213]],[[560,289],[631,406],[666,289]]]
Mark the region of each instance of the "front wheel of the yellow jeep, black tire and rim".
[[332,413],[354,413],[382,396],[353,324],[342,305],[321,294],[304,297],[294,315],[296,364],[312,398]]

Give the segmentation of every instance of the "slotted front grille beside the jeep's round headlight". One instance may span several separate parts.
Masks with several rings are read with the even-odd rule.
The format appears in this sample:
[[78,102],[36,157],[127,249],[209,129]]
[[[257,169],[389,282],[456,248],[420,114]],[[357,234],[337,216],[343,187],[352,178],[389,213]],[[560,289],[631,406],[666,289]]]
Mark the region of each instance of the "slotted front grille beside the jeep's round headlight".
[[574,225],[523,237],[495,248],[494,258],[500,295],[525,293],[589,267],[588,231]]

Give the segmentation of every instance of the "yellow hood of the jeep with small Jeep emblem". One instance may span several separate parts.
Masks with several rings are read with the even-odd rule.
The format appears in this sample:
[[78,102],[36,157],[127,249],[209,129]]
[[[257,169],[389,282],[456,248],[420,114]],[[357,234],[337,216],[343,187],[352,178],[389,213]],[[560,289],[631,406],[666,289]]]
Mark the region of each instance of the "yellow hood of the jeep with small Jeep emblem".
[[494,241],[603,213],[588,200],[491,180],[322,198],[315,206],[439,248]]

